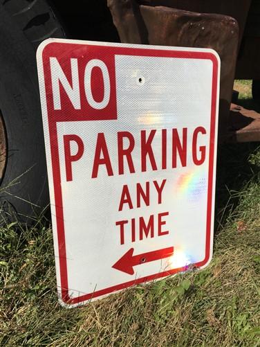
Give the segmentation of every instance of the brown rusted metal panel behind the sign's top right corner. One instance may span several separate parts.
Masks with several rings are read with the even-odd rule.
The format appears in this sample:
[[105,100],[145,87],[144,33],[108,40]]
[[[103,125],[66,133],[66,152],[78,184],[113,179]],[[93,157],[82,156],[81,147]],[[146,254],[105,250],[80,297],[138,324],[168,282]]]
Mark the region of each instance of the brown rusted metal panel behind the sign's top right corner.
[[[168,1],[169,3],[169,1]],[[227,136],[239,41],[239,26],[225,15],[143,6],[133,0],[108,0],[122,42],[213,48],[221,57],[219,139]]]

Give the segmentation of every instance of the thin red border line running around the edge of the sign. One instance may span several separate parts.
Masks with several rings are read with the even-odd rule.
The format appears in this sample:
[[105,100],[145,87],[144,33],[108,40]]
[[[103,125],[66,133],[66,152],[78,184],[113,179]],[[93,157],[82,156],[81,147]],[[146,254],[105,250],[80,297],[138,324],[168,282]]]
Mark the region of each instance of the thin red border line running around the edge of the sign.
[[[212,226],[212,193],[213,193],[213,179],[214,179],[214,146],[215,146],[215,129],[216,129],[216,103],[217,103],[217,85],[218,85],[218,69],[219,62],[211,52],[194,52],[194,51],[175,51],[175,50],[163,50],[163,48],[128,48],[125,46],[102,46],[102,45],[91,45],[91,44],[77,44],[67,42],[49,42],[44,46],[42,50],[42,61],[44,69],[44,83],[46,89],[46,103],[48,110],[48,127],[50,134],[50,152],[51,161],[53,166],[53,186],[55,195],[55,215],[57,222],[57,240],[59,249],[59,271],[61,280],[61,293],[62,301],[68,305],[74,305],[82,303],[89,299],[93,299],[117,290],[122,290],[131,285],[143,283],[146,281],[152,281],[157,278],[162,278],[177,272],[184,271],[185,268],[171,269],[166,272],[160,272],[151,276],[138,278],[132,281],[114,285],[112,287],[104,288],[103,290],[97,290],[89,294],[71,298],[68,294],[68,272],[66,263],[66,240],[64,232],[64,214],[63,214],[63,202],[62,202],[62,188],[61,188],[61,175],[59,167],[59,150],[57,140],[57,122],[68,121],[62,117],[57,116],[57,111],[53,110],[53,100],[50,100],[50,71],[49,64],[47,65],[48,58],[51,56],[56,57],[59,55],[67,55],[68,51],[74,49],[80,49],[82,46],[88,46],[89,48],[95,48],[95,50],[102,51],[106,49],[108,55],[136,55],[143,57],[176,57],[176,58],[190,58],[190,59],[201,59],[211,60],[213,64],[212,69],[212,105],[211,105],[211,122],[210,122],[210,150],[209,150],[209,174],[208,174],[208,186],[207,186],[207,222],[206,222],[206,240],[205,240],[205,259],[199,263],[194,264],[196,267],[202,267],[206,265],[210,260],[210,243],[211,243],[211,226]],[[87,119],[81,119],[86,121]],[[72,121],[80,121],[80,119],[73,118]]]

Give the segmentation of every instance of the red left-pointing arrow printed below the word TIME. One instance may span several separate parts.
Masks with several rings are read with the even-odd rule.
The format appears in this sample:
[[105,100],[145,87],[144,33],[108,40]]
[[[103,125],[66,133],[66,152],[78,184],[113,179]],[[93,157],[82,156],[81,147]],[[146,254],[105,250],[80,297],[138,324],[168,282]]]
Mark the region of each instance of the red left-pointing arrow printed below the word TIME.
[[112,267],[129,275],[133,275],[133,266],[149,263],[150,261],[168,258],[174,253],[174,247],[158,249],[133,256],[133,248],[129,249]]

